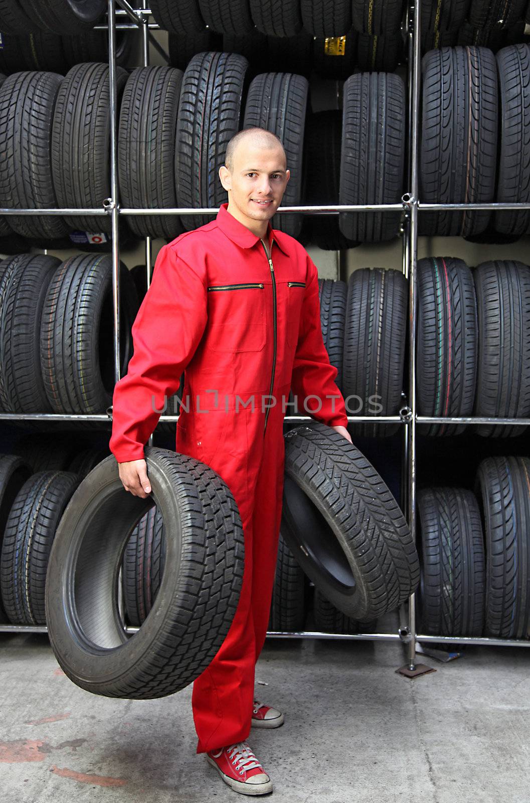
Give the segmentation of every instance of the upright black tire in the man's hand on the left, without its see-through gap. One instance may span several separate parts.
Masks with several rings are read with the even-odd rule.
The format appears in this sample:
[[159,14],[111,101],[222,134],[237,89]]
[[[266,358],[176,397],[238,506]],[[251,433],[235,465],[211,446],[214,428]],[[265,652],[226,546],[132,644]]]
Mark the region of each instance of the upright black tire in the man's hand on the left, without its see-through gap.
[[[113,456],[79,485],[51,550],[46,589],[55,657],[79,687],[107,697],[154,699],[192,683],[232,623],[244,540],[229,487],[204,463],[145,449],[152,493],[123,491]],[[166,562],[140,630],[123,630],[116,598],[131,529],[153,504],[164,519]],[[104,532],[104,537],[102,533]]]

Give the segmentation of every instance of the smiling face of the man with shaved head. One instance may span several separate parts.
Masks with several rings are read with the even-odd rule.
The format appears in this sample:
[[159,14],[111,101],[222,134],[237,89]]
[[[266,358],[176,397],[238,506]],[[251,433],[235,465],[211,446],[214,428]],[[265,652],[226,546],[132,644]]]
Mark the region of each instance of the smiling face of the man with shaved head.
[[280,206],[289,181],[285,153],[279,146],[263,148],[244,140],[233,154],[232,173],[221,168],[220,179],[243,218],[268,221]]

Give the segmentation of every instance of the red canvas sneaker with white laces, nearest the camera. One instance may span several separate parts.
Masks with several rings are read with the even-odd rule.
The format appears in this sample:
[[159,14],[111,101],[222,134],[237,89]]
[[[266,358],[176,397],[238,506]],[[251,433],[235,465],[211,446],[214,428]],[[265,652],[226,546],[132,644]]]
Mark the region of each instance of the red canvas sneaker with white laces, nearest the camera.
[[244,795],[265,795],[273,791],[273,782],[246,742],[210,750],[206,758],[231,789]]

